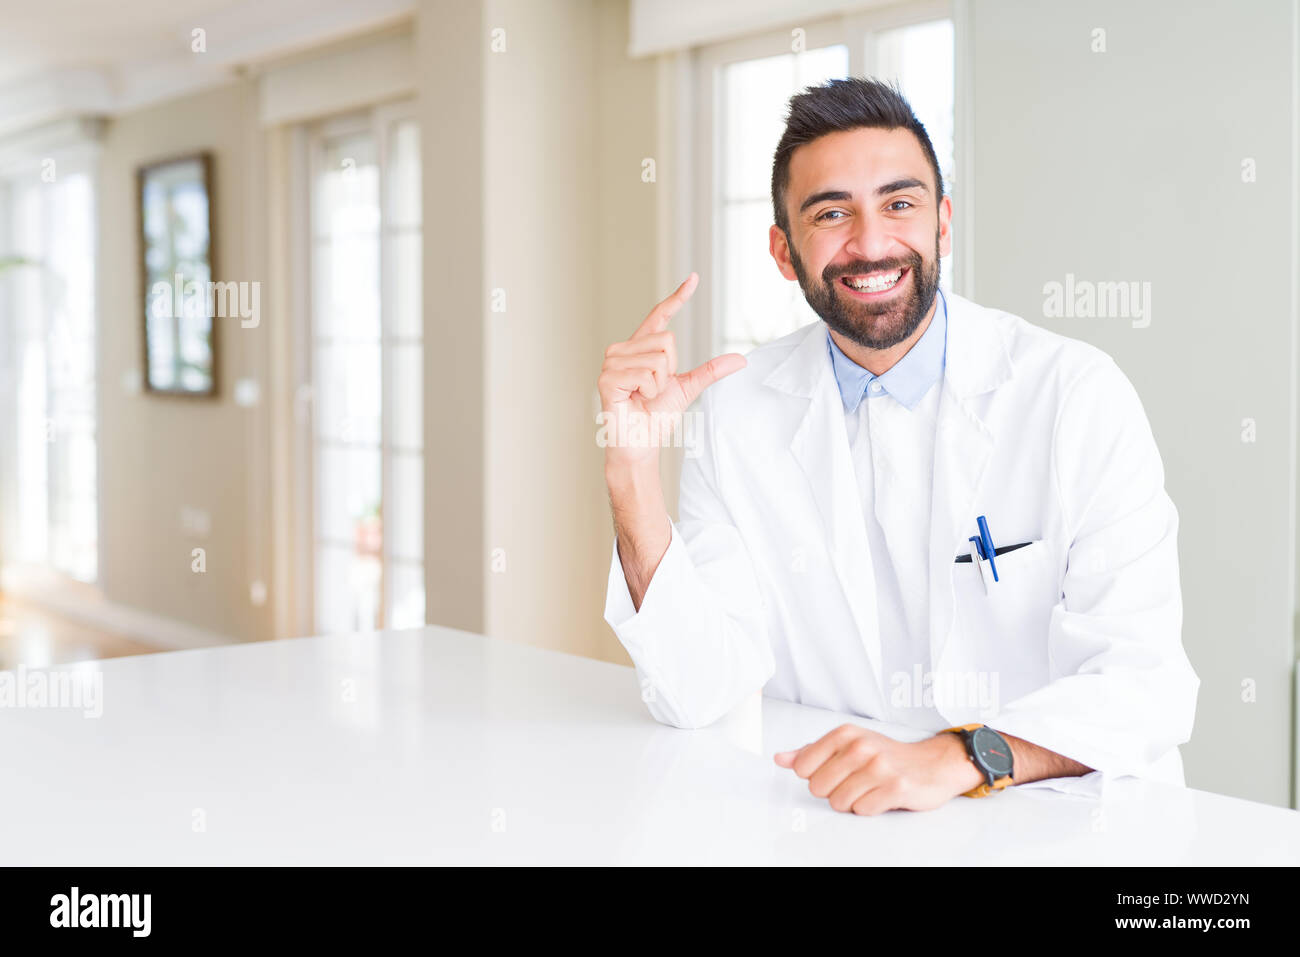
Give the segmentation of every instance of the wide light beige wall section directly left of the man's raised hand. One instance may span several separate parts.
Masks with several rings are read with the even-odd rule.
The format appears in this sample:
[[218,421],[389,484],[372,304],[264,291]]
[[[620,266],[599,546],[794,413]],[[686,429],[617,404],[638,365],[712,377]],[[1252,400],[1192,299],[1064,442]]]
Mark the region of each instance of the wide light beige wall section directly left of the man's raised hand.
[[[488,631],[627,661],[604,625],[611,544],[595,376],[655,295],[653,61],[619,0],[488,3]],[[499,550],[499,551],[498,551]],[[493,560],[497,559],[494,564]]]

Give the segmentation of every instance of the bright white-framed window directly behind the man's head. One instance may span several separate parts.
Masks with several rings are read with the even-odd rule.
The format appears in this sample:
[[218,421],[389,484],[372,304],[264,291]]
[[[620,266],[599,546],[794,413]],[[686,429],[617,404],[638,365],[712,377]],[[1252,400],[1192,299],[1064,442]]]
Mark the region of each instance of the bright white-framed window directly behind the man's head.
[[[781,31],[702,51],[697,134],[712,146],[701,177],[712,217],[697,244],[712,277],[711,355],[749,351],[818,319],[768,252],[772,155],[792,95],[837,77],[896,82],[930,133],[945,187],[954,187],[953,23],[935,10],[916,8],[914,21],[906,9],[841,17],[806,27],[797,44]],[[941,263],[945,290],[950,259]]]

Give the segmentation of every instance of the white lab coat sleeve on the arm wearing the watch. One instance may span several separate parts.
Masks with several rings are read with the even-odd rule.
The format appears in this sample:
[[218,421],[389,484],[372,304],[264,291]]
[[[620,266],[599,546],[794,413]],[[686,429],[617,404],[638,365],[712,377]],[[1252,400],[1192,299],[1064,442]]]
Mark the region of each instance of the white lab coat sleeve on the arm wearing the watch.
[[1072,538],[1050,680],[987,723],[1102,778],[1148,776],[1191,737],[1200,679],[1182,642],[1178,512],[1141,400],[1109,358],[1069,390],[1053,449]]

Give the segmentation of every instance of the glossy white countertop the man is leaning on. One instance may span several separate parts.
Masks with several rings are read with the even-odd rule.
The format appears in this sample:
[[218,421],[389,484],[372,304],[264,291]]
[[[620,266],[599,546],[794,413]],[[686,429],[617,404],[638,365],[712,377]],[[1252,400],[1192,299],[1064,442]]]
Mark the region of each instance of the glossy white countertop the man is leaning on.
[[3,863],[1300,863],[1300,813],[1135,779],[840,814],[772,754],[915,732],[767,698],[679,731],[630,668],[447,628],[74,667],[100,718],[0,709]]

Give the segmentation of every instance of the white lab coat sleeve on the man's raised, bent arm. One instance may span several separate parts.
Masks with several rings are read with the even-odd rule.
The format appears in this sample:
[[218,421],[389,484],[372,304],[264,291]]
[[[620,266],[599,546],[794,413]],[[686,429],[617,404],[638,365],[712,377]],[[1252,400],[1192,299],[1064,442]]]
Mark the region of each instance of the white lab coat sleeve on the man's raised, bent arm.
[[754,567],[718,486],[708,393],[697,404],[702,423],[682,463],[668,550],[636,610],[615,541],[604,605],[642,701],[679,728],[714,723],[776,667]]

